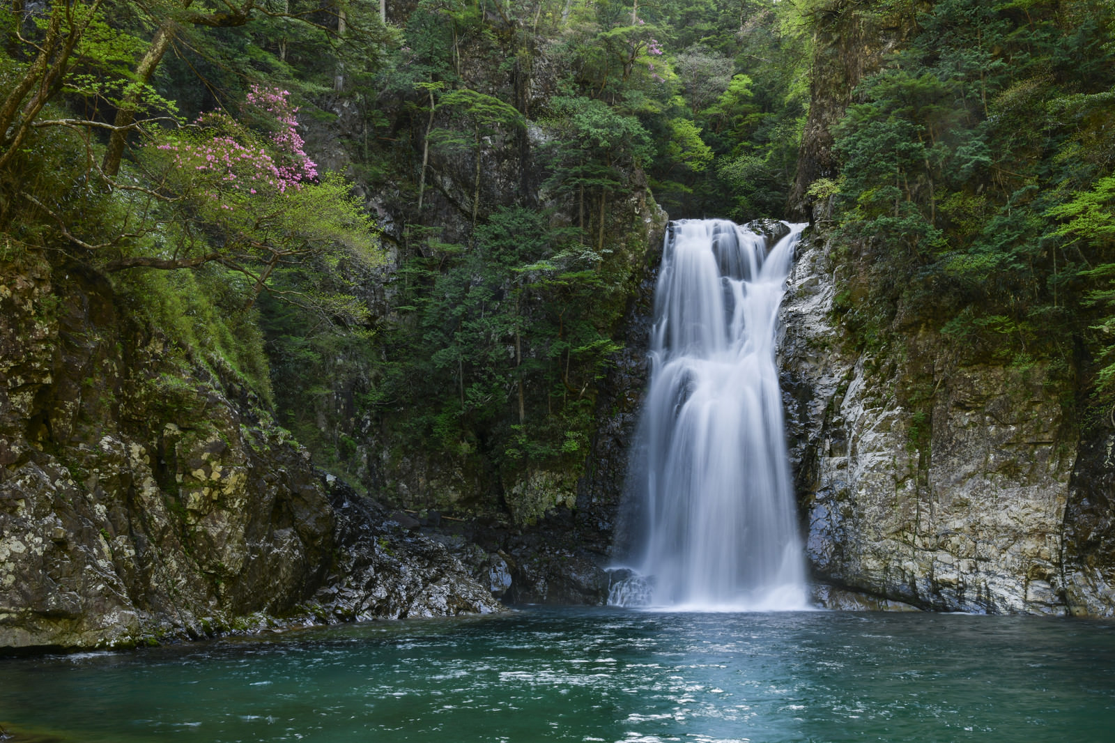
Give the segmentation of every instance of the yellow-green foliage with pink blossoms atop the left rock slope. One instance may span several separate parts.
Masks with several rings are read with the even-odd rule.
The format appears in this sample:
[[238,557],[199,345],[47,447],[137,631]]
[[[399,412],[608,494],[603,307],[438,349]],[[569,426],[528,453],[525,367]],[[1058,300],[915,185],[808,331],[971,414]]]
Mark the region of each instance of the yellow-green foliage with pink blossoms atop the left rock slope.
[[[271,402],[271,365],[254,299],[266,289],[319,322],[366,321],[367,307],[351,293],[349,279],[366,280],[379,260],[377,228],[350,182],[332,174],[311,182],[312,167],[294,167],[291,157],[304,157],[301,139],[293,136],[292,110],[283,108],[285,118],[277,119],[278,98],[265,104],[270,113],[245,108],[239,117],[220,114],[190,126],[171,117],[165,120],[175,126],[158,129],[147,122],[138,160],[126,163],[118,180],[107,178],[96,165],[104,152],[100,128],[85,116],[98,117],[106,104],[127,97],[137,100],[140,114],[174,114],[173,97],[155,94],[134,68],[147,50],[148,21],[164,20],[156,11],[181,12],[182,3],[72,3],[70,10],[72,18],[55,31],[39,25],[41,44],[54,32],[56,40],[74,44],[72,52],[39,68],[39,84],[52,85],[48,93],[56,97],[38,109],[0,166],[4,251],[107,271],[120,301],[171,358],[209,367],[222,379],[231,370],[234,383]],[[33,71],[33,50],[13,36],[4,41],[0,75],[12,81]],[[227,50],[226,41],[217,46]],[[57,68],[54,83],[50,65]],[[178,89],[188,90],[188,80]],[[152,385],[166,404],[190,397],[162,378]]]

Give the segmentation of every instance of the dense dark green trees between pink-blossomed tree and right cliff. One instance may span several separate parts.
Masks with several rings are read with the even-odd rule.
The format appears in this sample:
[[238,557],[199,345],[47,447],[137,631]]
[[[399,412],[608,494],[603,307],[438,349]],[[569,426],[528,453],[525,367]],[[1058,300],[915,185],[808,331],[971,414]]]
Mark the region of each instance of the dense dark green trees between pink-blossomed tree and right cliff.
[[[805,56],[775,6],[399,11],[353,172],[406,220],[401,268],[380,317],[349,324],[370,334],[363,345],[264,298],[277,395],[294,401],[284,423],[353,476],[367,459],[356,430],[377,426],[485,481],[579,467],[638,268],[617,243],[648,184],[672,216],[783,210]],[[746,176],[726,176],[729,163]]]

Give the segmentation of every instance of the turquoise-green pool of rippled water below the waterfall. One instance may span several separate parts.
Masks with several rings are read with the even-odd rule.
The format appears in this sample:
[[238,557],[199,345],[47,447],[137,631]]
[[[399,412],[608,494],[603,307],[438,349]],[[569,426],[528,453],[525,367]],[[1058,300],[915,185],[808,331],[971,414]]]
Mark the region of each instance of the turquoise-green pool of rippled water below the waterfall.
[[90,743],[1108,741],[1115,625],[608,608],[375,623],[0,660],[0,724]]

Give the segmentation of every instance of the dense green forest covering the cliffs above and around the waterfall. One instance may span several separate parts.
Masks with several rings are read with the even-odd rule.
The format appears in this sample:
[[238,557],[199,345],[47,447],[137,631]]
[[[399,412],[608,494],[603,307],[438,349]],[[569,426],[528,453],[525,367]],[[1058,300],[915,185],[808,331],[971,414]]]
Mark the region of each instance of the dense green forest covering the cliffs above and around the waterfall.
[[[809,219],[861,347],[928,327],[1049,365],[1080,425],[1115,401],[1106,0],[16,0],[3,22],[4,282],[103,276],[358,488],[420,450],[473,483],[456,508],[552,505],[512,492],[583,470],[667,215]],[[821,112],[826,35],[878,66]]]

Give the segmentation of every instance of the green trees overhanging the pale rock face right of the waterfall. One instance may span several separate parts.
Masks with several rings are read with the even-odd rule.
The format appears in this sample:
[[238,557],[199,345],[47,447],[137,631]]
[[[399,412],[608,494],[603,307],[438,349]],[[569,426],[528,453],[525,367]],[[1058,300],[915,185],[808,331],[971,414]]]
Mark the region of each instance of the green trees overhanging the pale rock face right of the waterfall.
[[826,186],[871,257],[864,327],[935,318],[962,353],[1018,364],[1089,347],[1115,392],[1113,18],[1092,0],[940,0],[864,80]]

